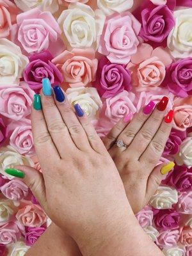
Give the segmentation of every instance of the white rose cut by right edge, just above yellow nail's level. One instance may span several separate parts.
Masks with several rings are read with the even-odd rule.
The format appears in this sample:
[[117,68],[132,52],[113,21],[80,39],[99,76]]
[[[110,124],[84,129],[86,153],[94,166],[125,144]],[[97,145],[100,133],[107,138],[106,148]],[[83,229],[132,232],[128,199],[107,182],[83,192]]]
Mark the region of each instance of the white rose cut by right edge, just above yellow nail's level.
[[192,137],[186,138],[180,145],[179,153],[175,156],[178,165],[186,164],[188,168],[192,166]]

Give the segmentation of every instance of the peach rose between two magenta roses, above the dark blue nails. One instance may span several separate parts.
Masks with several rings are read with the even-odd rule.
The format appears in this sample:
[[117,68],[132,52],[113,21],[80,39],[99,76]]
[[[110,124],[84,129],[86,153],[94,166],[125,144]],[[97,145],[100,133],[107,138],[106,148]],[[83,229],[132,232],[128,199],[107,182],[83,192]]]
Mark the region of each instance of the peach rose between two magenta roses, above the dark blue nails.
[[61,70],[67,86],[81,87],[95,81],[98,60],[93,49],[64,51],[52,63]]

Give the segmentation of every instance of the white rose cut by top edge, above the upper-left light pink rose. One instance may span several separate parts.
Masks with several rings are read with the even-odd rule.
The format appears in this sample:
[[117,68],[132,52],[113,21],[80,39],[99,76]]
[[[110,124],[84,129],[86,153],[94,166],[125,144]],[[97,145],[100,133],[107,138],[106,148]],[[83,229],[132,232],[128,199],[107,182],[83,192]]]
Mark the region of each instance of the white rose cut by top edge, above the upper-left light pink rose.
[[47,12],[57,12],[58,11],[58,1],[57,0],[15,0],[15,4],[23,12],[27,12],[33,8],[40,8],[42,11]]

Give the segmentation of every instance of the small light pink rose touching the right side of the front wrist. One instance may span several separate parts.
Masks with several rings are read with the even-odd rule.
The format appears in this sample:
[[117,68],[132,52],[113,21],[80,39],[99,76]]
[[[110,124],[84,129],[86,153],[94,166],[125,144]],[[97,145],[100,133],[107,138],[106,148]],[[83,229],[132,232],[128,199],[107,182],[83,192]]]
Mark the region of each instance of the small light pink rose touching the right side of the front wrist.
[[152,226],[153,217],[154,212],[148,205],[146,205],[140,212],[136,214],[136,218],[142,228]]

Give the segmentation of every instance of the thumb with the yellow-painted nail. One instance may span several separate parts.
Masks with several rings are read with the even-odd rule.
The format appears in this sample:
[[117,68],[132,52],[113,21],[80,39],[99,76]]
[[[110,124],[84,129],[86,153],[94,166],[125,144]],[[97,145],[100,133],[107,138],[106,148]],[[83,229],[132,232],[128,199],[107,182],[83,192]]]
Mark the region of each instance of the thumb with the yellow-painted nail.
[[167,173],[173,170],[174,166],[175,164],[173,162],[169,162],[167,164],[159,164],[154,168],[154,170],[152,170],[147,180],[147,202],[150,200],[151,196],[154,195],[157,188],[161,184],[161,181],[165,179]]

